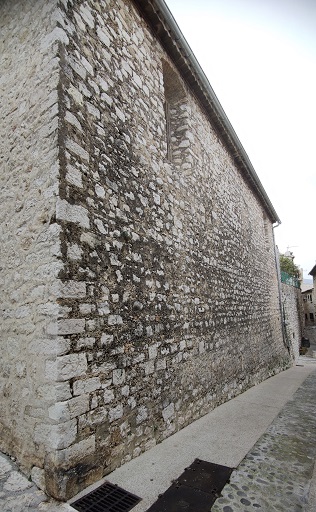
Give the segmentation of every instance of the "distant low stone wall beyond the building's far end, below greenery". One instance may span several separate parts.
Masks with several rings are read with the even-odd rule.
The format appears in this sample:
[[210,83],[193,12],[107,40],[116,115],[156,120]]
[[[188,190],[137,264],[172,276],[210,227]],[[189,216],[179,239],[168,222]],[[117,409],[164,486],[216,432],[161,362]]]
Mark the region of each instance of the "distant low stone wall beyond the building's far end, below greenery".
[[281,289],[286,343],[294,361],[297,361],[305,324],[302,293],[299,288],[285,283]]

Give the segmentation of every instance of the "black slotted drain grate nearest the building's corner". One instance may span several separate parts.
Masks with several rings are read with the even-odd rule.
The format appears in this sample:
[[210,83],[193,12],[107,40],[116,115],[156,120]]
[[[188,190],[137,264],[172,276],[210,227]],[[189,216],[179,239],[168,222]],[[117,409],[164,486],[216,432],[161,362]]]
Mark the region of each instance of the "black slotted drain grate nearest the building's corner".
[[128,512],[141,498],[106,482],[71,504],[79,512]]

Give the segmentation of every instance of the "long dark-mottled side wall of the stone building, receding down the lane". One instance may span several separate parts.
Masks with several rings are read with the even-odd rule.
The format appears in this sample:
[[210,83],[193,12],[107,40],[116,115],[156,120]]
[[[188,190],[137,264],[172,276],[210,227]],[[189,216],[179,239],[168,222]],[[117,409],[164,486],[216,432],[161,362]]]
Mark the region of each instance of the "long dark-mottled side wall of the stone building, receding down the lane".
[[[69,495],[289,356],[271,222],[168,56],[131,2],[63,12],[60,198],[74,214],[59,217],[61,277],[87,297],[62,304],[86,319],[71,345],[87,372],[71,382],[87,404],[76,442],[95,441],[81,482],[75,457],[53,461]],[[166,63],[181,83],[171,161]]]

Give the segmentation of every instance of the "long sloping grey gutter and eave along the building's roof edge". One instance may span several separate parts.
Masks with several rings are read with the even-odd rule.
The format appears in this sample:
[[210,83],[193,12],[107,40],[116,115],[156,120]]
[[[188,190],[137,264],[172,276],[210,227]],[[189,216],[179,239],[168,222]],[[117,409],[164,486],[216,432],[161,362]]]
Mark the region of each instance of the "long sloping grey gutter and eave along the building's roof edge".
[[281,221],[200,64],[164,0],[133,0],[215,126],[272,223]]

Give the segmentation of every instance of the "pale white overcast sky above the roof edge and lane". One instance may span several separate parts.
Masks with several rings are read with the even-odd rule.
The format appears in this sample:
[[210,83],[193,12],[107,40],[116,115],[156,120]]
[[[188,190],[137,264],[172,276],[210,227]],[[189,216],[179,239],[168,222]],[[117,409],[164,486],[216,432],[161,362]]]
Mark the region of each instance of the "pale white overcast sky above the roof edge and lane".
[[166,0],[304,276],[316,263],[316,0]]

